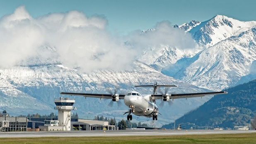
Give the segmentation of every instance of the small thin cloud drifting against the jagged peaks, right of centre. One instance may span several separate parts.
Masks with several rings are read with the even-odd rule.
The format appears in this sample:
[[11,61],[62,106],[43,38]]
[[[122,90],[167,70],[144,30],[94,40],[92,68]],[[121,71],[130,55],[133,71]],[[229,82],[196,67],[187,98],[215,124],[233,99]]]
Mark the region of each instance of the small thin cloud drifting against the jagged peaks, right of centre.
[[174,28],[169,21],[157,23],[154,31],[140,33],[135,31],[128,37],[128,41],[137,47],[158,47],[159,45],[169,45],[179,49],[191,49],[197,47],[196,42],[189,33],[185,33],[180,28]]

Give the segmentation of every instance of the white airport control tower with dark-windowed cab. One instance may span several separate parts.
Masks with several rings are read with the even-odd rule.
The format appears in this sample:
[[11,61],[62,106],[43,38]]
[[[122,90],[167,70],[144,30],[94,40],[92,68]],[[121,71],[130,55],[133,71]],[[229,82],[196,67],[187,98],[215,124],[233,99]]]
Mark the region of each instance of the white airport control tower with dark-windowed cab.
[[55,99],[54,103],[56,104],[54,109],[58,109],[59,126],[63,126],[63,130],[70,130],[71,110],[76,109],[73,107],[75,100],[60,97],[59,99]]

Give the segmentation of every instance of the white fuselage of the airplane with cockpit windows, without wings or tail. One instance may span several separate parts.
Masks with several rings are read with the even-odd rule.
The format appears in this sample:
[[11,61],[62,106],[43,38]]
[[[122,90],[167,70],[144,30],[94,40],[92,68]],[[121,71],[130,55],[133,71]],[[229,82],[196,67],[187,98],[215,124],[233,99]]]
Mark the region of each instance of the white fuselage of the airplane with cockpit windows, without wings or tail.
[[137,116],[152,117],[157,115],[157,105],[152,103],[151,94],[141,95],[139,92],[128,92],[124,97],[124,103],[132,113]]

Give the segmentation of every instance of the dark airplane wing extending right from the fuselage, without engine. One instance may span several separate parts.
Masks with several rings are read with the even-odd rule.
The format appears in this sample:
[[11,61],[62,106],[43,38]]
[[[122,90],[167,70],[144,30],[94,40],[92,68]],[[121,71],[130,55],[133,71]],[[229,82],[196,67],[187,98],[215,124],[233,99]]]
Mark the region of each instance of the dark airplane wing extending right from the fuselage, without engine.
[[[190,97],[204,97],[205,95],[217,95],[217,94],[227,94],[227,92],[201,92],[201,93],[188,93],[188,94],[167,94],[170,99],[182,99]],[[151,97],[155,99],[162,99],[163,94],[151,94]]]

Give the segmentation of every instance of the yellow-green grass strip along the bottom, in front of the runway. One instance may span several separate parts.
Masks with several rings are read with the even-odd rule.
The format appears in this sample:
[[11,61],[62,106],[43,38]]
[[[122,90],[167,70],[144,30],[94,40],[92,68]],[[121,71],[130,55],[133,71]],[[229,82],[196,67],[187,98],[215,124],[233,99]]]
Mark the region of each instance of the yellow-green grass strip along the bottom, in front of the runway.
[[1,144],[256,144],[256,133],[128,137],[0,138]]

